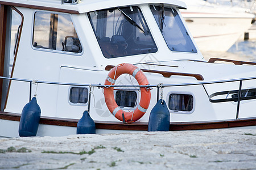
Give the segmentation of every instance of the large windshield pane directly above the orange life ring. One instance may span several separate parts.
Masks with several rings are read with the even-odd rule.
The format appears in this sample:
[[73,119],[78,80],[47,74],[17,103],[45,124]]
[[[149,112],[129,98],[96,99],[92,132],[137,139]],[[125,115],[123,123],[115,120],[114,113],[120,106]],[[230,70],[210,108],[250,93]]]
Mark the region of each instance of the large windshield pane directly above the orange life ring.
[[106,58],[154,53],[154,40],[137,6],[88,13],[98,44]]

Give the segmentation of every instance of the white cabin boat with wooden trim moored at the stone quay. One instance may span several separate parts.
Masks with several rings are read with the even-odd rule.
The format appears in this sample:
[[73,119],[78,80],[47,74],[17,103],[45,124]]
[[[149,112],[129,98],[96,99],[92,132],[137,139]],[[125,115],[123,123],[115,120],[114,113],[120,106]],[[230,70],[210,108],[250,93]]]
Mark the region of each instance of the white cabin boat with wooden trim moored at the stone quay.
[[255,63],[205,61],[179,11],[186,8],[181,1],[0,5],[2,137],[19,137],[20,125],[34,124],[23,116],[33,95],[38,136],[76,134],[84,111],[96,133],[148,130],[163,122],[150,121],[156,101],[170,114],[167,130],[256,125]]

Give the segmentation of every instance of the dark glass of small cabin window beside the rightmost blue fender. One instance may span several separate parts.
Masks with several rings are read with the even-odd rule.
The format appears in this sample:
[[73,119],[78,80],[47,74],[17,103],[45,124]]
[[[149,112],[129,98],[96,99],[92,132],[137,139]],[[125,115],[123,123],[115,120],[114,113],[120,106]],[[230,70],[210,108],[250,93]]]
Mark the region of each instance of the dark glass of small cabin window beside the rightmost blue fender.
[[170,94],[168,108],[174,112],[191,112],[193,110],[193,96],[187,94]]

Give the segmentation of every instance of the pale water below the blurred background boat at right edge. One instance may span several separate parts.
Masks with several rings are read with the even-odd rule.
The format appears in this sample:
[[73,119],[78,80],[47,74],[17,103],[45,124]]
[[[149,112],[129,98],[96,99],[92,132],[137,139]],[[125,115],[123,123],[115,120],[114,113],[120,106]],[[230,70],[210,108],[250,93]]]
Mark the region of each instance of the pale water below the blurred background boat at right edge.
[[205,59],[225,58],[240,61],[256,62],[256,39],[237,41],[227,52],[202,52]]

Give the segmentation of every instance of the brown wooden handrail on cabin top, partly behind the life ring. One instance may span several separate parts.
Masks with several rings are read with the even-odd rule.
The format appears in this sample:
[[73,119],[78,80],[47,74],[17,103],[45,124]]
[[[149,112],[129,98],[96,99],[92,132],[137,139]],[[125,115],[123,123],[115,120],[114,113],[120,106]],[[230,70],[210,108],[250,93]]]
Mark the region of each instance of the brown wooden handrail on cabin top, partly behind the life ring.
[[[105,70],[110,71],[111,69],[113,69],[115,66],[112,65],[108,65],[105,67]],[[193,76],[195,77],[197,80],[204,80],[203,75],[201,74],[192,74],[192,73],[177,73],[177,72],[171,72],[171,71],[159,71],[159,70],[147,70],[147,69],[141,69],[141,71],[143,72],[148,72],[148,73],[158,73],[158,74],[162,74],[164,77],[169,78],[172,75],[180,75],[180,76]]]

